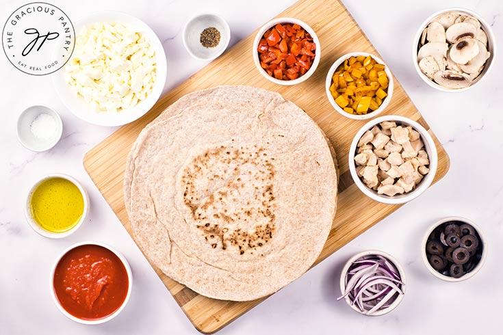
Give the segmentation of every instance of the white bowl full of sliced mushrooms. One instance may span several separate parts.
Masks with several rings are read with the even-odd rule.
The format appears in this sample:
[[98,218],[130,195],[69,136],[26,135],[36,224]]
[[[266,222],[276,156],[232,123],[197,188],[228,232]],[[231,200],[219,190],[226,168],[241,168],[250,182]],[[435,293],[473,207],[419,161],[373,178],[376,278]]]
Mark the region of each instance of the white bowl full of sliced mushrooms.
[[420,77],[444,92],[473,87],[491,68],[495,38],[478,14],[442,10],[424,21],[414,39],[413,58]]

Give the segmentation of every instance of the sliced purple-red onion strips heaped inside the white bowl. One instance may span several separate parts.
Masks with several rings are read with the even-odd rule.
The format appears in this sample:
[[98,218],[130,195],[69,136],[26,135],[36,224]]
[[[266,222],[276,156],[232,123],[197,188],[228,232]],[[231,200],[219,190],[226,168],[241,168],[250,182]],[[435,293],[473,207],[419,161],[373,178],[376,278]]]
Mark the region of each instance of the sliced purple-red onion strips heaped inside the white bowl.
[[389,308],[403,294],[404,283],[391,261],[381,255],[359,258],[346,272],[345,291],[352,305],[367,315]]

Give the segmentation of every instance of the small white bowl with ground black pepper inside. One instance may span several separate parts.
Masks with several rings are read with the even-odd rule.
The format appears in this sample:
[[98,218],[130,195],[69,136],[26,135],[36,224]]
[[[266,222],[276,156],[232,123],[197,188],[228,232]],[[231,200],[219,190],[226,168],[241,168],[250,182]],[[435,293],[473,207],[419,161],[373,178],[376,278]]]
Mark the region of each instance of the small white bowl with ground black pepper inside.
[[191,18],[183,29],[183,45],[192,57],[211,60],[222,55],[231,39],[227,22],[215,14]]

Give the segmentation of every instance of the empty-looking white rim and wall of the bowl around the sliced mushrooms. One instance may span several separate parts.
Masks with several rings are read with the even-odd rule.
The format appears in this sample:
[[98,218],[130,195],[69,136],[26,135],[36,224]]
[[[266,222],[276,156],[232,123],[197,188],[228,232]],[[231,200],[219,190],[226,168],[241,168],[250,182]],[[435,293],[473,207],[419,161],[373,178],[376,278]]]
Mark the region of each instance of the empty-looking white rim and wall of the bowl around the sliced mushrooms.
[[[426,28],[426,26],[428,26],[431,23],[431,21],[433,21],[434,18],[436,18],[437,16],[439,16],[443,13],[448,13],[448,12],[459,12],[459,14],[467,14],[467,15],[474,16],[475,18],[478,19],[478,21],[480,21],[480,25],[481,25],[482,29],[484,29],[484,31],[487,35],[487,46],[488,46],[488,51],[491,53],[491,57],[489,57],[489,59],[487,59],[485,66],[484,66],[484,70],[482,70],[482,72],[480,72],[480,75],[478,75],[478,77],[467,88],[459,88],[459,89],[444,88],[443,86],[435,83],[435,81],[426,77],[426,75],[424,75],[424,73],[421,71],[421,69],[419,67],[419,63],[417,62],[417,51],[419,51],[418,46],[420,44],[420,39],[421,39],[421,35],[423,33],[424,28]],[[495,58],[495,53],[496,53],[496,39],[494,37],[493,29],[491,28],[491,25],[489,25],[487,23],[487,21],[485,21],[484,18],[482,18],[476,12],[472,12],[471,10],[467,10],[465,8],[448,8],[446,10],[440,10],[439,12],[436,12],[436,13],[432,14],[430,17],[426,18],[426,20],[424,20],[424,22],[420,25],[419,29],[417,29],[417,33],[415,34],[414,41],[413,41],[413,47],[412,47],[412,59],[413,59],[414,67],[415,67],[415,70],[417,71],[417,74],[420,75],[421,79],[423,79],[423,81],[425,83],[430,85],[432,88],[435,88],[435,89],[442,91],[442,92],[464,92],[464,91],[468,90],[469,88],[473,88],[476,84],[478,84],[481,81],[482,77],[485,77],[485,75],[487,75],[489,70],[492,68],[493,59]]]

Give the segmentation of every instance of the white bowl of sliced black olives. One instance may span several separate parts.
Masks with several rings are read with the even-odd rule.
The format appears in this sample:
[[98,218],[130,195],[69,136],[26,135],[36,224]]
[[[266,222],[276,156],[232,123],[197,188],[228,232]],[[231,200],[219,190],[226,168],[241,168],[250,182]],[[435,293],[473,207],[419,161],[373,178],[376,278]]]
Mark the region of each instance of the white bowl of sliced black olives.
[[422,257],[433,276],[461,282],[477,273],[487,255],[480,228],[463,217],[446,217],[428,229],[422,243]]

